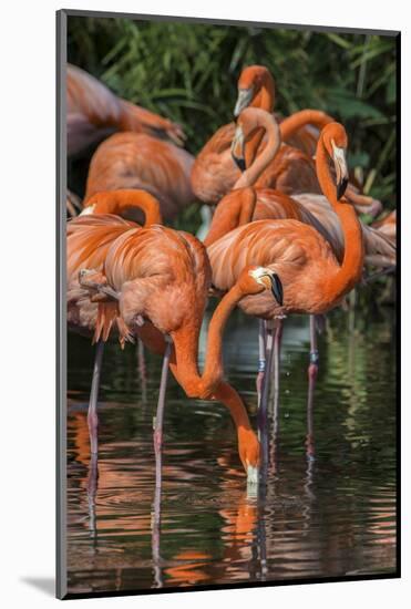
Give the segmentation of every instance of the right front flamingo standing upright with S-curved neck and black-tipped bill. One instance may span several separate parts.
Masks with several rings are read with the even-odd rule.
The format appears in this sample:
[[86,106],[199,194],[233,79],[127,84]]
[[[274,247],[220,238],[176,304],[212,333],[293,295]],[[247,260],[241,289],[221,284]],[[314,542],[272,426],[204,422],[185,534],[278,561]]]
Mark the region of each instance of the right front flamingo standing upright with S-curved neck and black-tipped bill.
[[[348,182],[346,148],[347,133],[343,126],[339,123],[326,125],[317,144],[316,167],[321,189],[341,223],[346,244],[341,262],[323,235],[314,226],[296,219],[253,221],[232,230],[207,248],[213,285],[223,292],[230,289],[246,265],[265,266],[281,277],[285,293],[282,306],[267,301],[265,295],[246,297],[239,302],[246,313],[275,320],[277,371],[281,331],[278,320],[290,313],[326,313],[341,302],[362,275],[364,254],[361,224],[353,207],[342,199]],[[336,168],[337,194],[328,157],[333,161]],[[311,345],[312,342],[311,337]],[[267,351],[270,361],[271,345]],[[314,375],[317,360],[311,360],[311,364],[309,373]],[[263,420],[266,398],[263,396],[261,401]]]

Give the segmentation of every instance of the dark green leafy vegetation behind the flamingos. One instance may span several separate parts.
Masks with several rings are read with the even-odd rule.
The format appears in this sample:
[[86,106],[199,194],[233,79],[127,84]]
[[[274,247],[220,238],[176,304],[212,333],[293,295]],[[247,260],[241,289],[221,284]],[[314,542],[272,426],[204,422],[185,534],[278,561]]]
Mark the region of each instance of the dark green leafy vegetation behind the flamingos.
[[70,17],[69,61],[183,125],[193,154],[232,120],[242,69],[264,64],[276,111],[315,107],[342,122],[364,192],[395,206],[394,38]]

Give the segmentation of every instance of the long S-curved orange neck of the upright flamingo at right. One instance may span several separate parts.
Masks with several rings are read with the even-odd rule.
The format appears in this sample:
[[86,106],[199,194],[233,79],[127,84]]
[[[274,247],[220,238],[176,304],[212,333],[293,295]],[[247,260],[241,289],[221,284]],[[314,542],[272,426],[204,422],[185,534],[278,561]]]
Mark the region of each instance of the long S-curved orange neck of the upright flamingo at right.
[[325,296],[327,293],[330,301],[336,301],[352,289],[361,278],[364,256],[362,230],[353,207],[349,203],[340,203],[337,199],[336,185],[331,177],[322,136],[317,144],[316,168],[321,190],[339,217],[345,238],[342,264],[332,277],[326,278]]

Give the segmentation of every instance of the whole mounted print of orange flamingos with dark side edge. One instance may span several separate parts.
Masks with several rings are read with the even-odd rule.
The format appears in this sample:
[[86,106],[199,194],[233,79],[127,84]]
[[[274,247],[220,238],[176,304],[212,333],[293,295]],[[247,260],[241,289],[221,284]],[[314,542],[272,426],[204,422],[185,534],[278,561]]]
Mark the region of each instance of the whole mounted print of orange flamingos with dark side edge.
[[400,575],[400,34],[347,20],[58,13],[59,598]]

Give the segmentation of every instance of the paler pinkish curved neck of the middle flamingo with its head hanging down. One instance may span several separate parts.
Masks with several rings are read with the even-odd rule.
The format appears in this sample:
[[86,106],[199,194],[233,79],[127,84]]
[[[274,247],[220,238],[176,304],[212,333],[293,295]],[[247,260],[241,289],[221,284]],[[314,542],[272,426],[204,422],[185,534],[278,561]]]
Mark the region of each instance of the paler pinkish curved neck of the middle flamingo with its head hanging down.
[[[253,186],[266,167],[271,163],[281,145],[278,123],[271,114],[268,114],[267,112],[258,114],[255,118],[255,128],[258,127],[263,127],[267,136],[266,147],[261,154],[255,158],[250,167],[239,176],[233,188]],[[247,145],[248,143],[246,144],[246,149]]]

